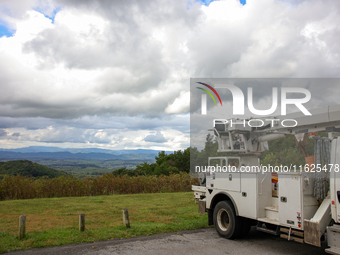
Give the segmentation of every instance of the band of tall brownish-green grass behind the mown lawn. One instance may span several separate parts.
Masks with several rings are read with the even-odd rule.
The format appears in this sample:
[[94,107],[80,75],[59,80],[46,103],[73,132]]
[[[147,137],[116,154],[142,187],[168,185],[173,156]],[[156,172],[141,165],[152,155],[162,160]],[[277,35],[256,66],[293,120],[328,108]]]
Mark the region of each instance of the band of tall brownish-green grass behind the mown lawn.
[[4,176],[0,180],[0,200],[79,197],[112,194],[136,194],[191,191],[197,179],[189,174],[169,176],[114,176],[105,174],[97,178],[75,177],[41,178],[33,180],[22,176]]

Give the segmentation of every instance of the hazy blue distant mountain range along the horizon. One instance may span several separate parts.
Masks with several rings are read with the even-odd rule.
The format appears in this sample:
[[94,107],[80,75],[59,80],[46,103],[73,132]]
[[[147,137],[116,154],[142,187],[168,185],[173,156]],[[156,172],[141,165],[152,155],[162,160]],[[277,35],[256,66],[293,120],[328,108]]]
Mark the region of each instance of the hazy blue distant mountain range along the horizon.
[[[0,149],[0,160],[18,159],[145,159],[154,160],[160,151],[157,150],[106,150],[98,148],[58,148],[30,146],[19,149]],[[172,151],[166,151],[167,154]]]

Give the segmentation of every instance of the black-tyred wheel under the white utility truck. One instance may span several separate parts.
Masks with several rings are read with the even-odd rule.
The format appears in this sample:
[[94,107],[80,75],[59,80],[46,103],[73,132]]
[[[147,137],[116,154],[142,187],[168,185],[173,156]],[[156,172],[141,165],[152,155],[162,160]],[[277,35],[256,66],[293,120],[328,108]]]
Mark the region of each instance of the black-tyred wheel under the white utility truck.
[[234,206],[230,201],[219,202],[214,209],[214,225],[217,233],[228,239],[240,236],[242,219],[236,216]]

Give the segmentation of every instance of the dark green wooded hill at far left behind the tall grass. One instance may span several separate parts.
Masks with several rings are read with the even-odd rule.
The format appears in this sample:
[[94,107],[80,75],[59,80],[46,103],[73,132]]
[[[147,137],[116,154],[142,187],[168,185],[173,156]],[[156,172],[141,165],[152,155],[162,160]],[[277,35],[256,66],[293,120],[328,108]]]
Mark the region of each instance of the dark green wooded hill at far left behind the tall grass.
[[0,162],[0,176],[21,175],[25,177],[40,178],[47,176],[55,178],[59,176],[71,176],[70,174],[53,168],[33,163],[29,160],[15,160]]

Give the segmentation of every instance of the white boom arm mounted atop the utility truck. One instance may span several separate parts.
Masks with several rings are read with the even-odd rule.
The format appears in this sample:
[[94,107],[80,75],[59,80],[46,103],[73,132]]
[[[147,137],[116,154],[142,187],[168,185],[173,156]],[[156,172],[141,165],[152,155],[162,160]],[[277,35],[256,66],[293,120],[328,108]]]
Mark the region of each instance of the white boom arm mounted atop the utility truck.
[[281,117],[214,120],[212,131],[217,137],[218,152],[258,155],[268,150],[267,141],[286,135],[340,132],[340,105],[313,109],[310,112],[312,115],[308,116],[291,113]]

